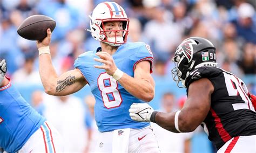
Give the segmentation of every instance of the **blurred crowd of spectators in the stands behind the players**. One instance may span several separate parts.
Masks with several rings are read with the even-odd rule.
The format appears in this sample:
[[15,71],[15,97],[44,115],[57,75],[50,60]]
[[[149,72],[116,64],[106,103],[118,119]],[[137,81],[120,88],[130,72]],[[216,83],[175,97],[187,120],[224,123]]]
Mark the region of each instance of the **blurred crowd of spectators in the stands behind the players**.
[[[0,59],[7,61],[8,77],[24,98],[63,134],[68,152],[92,151],[90,145],[95,143],[95,101],[90,88],[63,98],[45,95],[38,72],[36,42],[18,36],[17,27],[25,18],[36,14],[56,20],[50,48],[53,65],[57,73],[62,74],[73,69],[73,62],[79,54],[99,46],[99,41],[85,29],[90,28],[88,15],[100,2],[103,1],[0,0]],[[123,6],[130,19],[128,41],[143,41],[151,46],[154,54],[152,75],[156,81],[156,96],[151,102],[153,108],[170,112],[183,106],[186,93],[172,80],[171,68],[174,65],[171,57],[179,43],[192,36],[211,40],[217,48],[218,67],[244,79],[249,91],[256,94],[254,0],[114,2]],[[201,134],[201,129],[181,136],[156,127],[156,133],[163,152],[215,151],[207,136]]]

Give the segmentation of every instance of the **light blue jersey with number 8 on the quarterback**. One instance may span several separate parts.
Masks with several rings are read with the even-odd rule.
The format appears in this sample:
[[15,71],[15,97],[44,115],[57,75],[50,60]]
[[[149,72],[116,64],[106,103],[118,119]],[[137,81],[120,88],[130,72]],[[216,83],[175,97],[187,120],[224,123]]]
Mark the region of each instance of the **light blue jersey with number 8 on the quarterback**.
[[[83,73],[95,96],[95,119],[100,132],[115,129],[134,128],[142,129],[149,126],[147,122],[133,121],[129,116],[129,108],[133,102],[144,101],[135,98],[116,80],[93,65],[101,65],[101,62],[93,60],[99,58],[95,55],[97,50],[85,52],[77,58],[74,66]],[[145,43],[126,43],[118,47],[112,55],[116,66],[124,73],[134,77],[134,68],[140,61],[153,62],[153,54],[149,45]],[[140,92],[140,89],[137,89]]]

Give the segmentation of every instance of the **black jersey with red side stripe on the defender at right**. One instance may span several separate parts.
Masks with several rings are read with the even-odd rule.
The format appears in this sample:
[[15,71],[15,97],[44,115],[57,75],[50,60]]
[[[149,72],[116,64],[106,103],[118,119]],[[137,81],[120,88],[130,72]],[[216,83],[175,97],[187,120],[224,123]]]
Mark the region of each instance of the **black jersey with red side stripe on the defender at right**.
[[256,113],[244,82],[223,69],[199,67],[186,78],[187,94],[190,84],[200,78],[214,86],[211,108],[202,123],[208,139],[220,149],[232,137],[256,135]]

